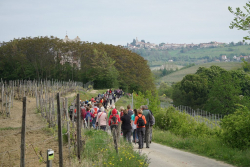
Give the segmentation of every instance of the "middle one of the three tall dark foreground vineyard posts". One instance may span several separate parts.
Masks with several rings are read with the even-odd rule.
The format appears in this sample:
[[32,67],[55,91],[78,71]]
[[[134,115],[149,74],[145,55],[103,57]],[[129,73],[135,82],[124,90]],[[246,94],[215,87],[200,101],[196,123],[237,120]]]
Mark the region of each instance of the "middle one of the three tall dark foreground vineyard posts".
[[63,150],[62,150],[62,124],[60,110],[60,95],[57,93],[57,121],[58,121],[58,144],[59,144],[59,167],[63,167]]

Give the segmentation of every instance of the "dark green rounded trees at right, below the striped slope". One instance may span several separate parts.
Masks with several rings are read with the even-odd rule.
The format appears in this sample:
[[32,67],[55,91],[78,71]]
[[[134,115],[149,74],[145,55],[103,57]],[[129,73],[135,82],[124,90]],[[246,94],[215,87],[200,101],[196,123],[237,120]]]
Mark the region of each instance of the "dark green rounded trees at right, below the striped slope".
[[219,66],[200,67],[173,85],[174,105],[231,114],[238,105],[249,106],[250,77],[242,69],[226,71]]

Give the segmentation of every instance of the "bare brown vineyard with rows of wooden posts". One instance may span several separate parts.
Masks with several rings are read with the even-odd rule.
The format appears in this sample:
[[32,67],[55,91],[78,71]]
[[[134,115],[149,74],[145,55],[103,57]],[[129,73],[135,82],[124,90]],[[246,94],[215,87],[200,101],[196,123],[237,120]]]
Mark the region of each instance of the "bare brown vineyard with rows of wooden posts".
[[[82,86],[82,83],[73,81],[2,81],[0,166],[20,166],[21,163],[25,166],[44,166],[48,149],[55,152],[55,166],[69,163],[70,146],[75,143],[68,140],[68,145],[61,143],[63,148],[60,149],[59,143],[70,133],[72,138],[76,137],[72,135],[75,129],[69,129],[76,128],[76,125],[69,120],[67,111],[68,104],[75,103],[76,93]],[[56,95],[60,97],[57,100]],[[61,111],[60,115],[58,111]],[[60,130],[61,139],[57,135]]]

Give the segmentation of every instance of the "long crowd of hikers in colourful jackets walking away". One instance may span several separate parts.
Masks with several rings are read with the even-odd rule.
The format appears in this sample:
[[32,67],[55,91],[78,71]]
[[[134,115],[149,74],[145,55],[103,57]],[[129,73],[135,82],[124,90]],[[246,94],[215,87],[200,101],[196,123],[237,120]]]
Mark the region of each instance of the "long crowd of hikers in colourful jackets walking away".
[[[146,148],[149,148],[152,139],[152,126],[154,125],[153,113],[147,105],[142,105],[139,109],[134,110],[131,109],[130,105],[127,105],[126,109],[121,106],[118,110],[112,103],[113,98],[108,107],[104,99],[112,94],[115,93],[110,89],[103,95],[99,94],[95,98],[92,97],[88,102],[80,101],[83,127],[107,131],[107,126],[109,126],[112,134],[117,135],[114,137],[122,134],[129,143],[139,143],[139,149],[143,148],[144,142],[146,142]],[[116,92],[116,95],[120,98],[122,96],[121,91]],[[73,111],[70,110],[69,112],[71,119],[73,119]],[[76,109],[74,112],[76,115]],[[121,125],[121,134],[118,131],[119,125]],[[113,131],[116,133],[113,133]],[[131,141],[131,136],[133,136],[133,141]]]

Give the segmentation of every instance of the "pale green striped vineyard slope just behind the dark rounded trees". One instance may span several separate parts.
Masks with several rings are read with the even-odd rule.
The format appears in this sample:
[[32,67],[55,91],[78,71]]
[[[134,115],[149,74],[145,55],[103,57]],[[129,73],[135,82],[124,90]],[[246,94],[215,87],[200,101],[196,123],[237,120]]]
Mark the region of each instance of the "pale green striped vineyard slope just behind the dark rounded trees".
[[232,69],[237,69],[237,68],[241,67],[240,62],[218,62],[218,63],[211,62],[211,63],[199,64],[199,65],[195,65],[193,67],[187,68],[187,69],[173,72],[167,76],[164,76],[164,77],[158,79],[156,82],[157,83],[160,83],[160,82],[167,82],[167,83],[179,82],[187,74],[194,74],[199,67],[207,67],[208,68],[212,65],[219,66],[219,67],[224,68],[226,70],[232,70]]

